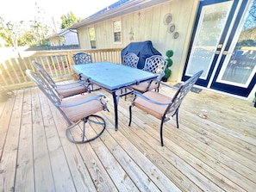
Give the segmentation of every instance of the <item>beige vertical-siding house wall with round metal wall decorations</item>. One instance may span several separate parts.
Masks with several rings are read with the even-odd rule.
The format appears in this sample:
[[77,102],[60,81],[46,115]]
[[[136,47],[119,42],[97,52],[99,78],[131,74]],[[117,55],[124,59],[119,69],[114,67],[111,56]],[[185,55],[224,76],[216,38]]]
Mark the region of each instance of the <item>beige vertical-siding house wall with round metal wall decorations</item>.
[[[78,37],[82,49],[91,49],[88,28],[94,27],[96,31],[97,48],[123,48],[130,42],[151,40],[153,46],[165,57],[165,52],[172,49],[172,77],[171,81],[181,79],[184,62],[190,44],[190,35],[197,15],[198,0],[173,0],[161,3],[147,9],[138,9],[128,15],[112,18],[104,22],[94,23],[78,29]],[[172,23],[179,33],[178,39],[173,33],[167,32],[164,24],[166,14],[172,14]],[[114,43],[113,22],[122,21],[122,43]],[[134,40],[130,40],[131,29]]]

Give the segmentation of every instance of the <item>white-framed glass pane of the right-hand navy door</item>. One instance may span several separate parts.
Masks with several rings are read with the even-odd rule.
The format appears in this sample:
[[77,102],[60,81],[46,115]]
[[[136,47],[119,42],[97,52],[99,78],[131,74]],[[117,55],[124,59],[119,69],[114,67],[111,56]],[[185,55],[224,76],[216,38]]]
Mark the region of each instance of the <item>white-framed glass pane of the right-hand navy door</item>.
[[[255,1],[254,1],[255,3]],[[256,3],[255,3],[256,6]],[[247,87],[256,71],[256,13],[255,7],[247,12],[246,19],[237,29],[238,38],[233,39],[217,82]]]

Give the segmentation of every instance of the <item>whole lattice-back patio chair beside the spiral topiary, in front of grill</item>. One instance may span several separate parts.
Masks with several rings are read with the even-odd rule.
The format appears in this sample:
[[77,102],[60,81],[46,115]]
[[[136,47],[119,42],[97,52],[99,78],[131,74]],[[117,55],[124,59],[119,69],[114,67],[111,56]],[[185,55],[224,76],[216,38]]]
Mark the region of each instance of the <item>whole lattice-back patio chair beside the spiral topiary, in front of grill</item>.
[[156,80],[143,82],[140,84],[132,85],[132,89],[145,93],[148,90],[159,90],[159,82],[165,76],[166,60],[160,55],[153,55],[147,58],[144,68],[142,70],[152,72],[158,75]]

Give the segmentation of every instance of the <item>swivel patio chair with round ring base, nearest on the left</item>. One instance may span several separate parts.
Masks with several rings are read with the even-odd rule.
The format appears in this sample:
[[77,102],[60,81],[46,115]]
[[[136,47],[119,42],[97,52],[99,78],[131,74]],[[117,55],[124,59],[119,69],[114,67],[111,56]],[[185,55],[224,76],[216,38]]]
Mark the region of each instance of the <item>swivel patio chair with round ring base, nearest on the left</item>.
[[[34,81],[40,90],[53,102],[61,115],[66,120],[66,137],[72,143],[82,144],[97,139],[105,130],[106,122],[103,117],[95,115],[97,112],[108,110],[106,102],[103,101],[103,95],[88,93],[84,95],[68,97],[60,100],[52,87],[37,72],[27,70],[26,74]],[[83,128],[78,126],[83,121]],[[85,124],[90,126],[85,129]]]

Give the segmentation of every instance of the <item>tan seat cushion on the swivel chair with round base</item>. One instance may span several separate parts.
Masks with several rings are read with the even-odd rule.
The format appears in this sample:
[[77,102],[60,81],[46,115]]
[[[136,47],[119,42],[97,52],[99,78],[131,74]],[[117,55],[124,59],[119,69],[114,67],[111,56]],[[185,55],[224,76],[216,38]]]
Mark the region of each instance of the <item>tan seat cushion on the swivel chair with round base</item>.
[[[93,96],[97,96],[94,93],[72,96],[61,101],[61,105],[71,105],[77,102],[83,102]],[[92,100],[91,102],[85,102],[74,107],[62,108],[63,112],[66,114],[70,121],[78,121],[86,116],[96,114],[98,111],[103,110],[103,104],[99,99]]]

